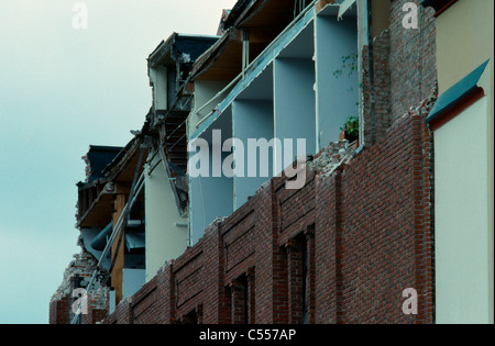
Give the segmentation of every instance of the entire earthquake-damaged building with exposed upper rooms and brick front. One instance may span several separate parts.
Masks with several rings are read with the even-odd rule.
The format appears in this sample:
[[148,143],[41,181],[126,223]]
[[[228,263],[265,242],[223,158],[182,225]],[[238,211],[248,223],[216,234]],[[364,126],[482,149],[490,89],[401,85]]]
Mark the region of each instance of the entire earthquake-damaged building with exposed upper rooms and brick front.
[[[493,323],[493,2],[469,3],[240,0],[218,36],[161,42],[143,127],[84,157],[51,323]],[[216,175],[249,165],[229,138],[280,138],[268,174]]]

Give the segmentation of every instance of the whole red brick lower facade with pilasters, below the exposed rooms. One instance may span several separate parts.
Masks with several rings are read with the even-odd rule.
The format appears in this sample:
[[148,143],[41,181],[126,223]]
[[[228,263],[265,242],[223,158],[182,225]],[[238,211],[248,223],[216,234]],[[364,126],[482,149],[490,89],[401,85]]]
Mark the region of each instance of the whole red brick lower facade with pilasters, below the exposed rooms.
[[[299,323],[301,246],[309,322],[432,323],[426,113],[405,114],[348,166],[309,171],[301,190],[265,183],[106,323]],[[418,315],[403,313],[408,288]]]

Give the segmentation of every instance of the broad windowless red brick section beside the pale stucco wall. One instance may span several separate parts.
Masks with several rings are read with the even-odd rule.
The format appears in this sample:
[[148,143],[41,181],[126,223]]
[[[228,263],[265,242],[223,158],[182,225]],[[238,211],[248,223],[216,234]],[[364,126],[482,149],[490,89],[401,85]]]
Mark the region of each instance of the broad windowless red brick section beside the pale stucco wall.
[[[342,237],[337,245],[342,322],[431,322],[424,304],[431,283],[424,272],[426,258],[431,258],[426,131],[424,119],[407,116],[342,172]],[[418,317],[402,312],[399,298],[407,288],[420,294]],[[369,309],[362,309],[363,301]]]

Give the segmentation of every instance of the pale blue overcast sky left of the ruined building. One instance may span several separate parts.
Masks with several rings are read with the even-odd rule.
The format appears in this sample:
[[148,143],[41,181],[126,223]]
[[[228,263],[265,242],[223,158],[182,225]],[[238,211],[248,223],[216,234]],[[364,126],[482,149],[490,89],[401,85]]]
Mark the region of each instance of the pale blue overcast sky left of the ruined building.
[[[77,2],[87,29],[73,25]],[[0,323],[48,323],[80,250],[80,158],[90,144],[124,146],[142,127],[150,53],[173,32],[215,35],[234,3],[0,0]]]

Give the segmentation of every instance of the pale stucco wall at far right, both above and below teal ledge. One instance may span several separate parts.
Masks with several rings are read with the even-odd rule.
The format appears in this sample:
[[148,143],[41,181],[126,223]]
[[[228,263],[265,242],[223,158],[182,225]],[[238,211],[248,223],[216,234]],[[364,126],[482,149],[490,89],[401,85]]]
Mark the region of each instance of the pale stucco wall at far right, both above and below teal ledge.
[[[458,199],[449,200],[447,192],[437,191],[440,200],[436,201],[436,217],[450,217],[446,221],[437,220],[437,223],[443,227],[437,230],[439,234],[436,239],[437,255],[440,260],[437,265],[439,323],[463,321],[494,323],[493,7],[493,1],[460,0],[439,15],[436,21],[440,93],[443,93],[488,58],[491,59],[479,83],[485,91],[485,99],[435,133],[436,159],[438,157],[440,160],[436,163],[437,190],[439,186],[443,186],[443,190],[447,191],[449,182],[457,182],[451,186],[450,193],[463,192],[463,190],[465,193],[469,192],[462,205],[464,208],[458,209],[457,213],[451,211],[449,214],[440,205],[440,202],[449,203],[450,205],[444,207],[447,209],[454,208],[453,204],[455,202],[460,204],[460,201]],[[455,153],[455,149],[460,152]],[[458,155],[458,160],[462,161],[462,165],[459,164],[455,167],[452,163],[450,171],[447,171],[447,158],[441,158],[441,153],[447,150],[449,150],[452,161],[454,155]],[[439,171],[439,168],[443,170]],[[457,177],[459,180],[454,181]],[[461,219],[464,221],[455,224]],[[470,222],[469,225],[468,222]],[[444,233],[448,226],[453,228],[455,237],[447,237]],[[462,227],[465,230],[462,231]],[[470,231],[470,234],[465,234]],[[468,235],[470,236],[468,237]],[[461,244],[463,241],[464,245]],[[450,250],[449,247],[451,247]],[[466,252],[462,255],[468,257],[468,263],[462,263],[460,255],[454,257],[458,248]],[[468,252],[468,248],[471,250]],[[452,268],[449,270],[446,261],[452,258],[455,260],[452,261]],[[459,271],[455,270],[455,267],[459,267]],[[455,276],[449,278],[449,275]],[[480,280],[476,281],[476,279]],[[471,294],[461,297],[462,299],[459,299],[461,304],[454,304],[454,292],[468,291],[468,289],[471,290]],[[450,308],[449,300],[450,305],[455,309]],[[479,313],[476,313],[476,309]]]

